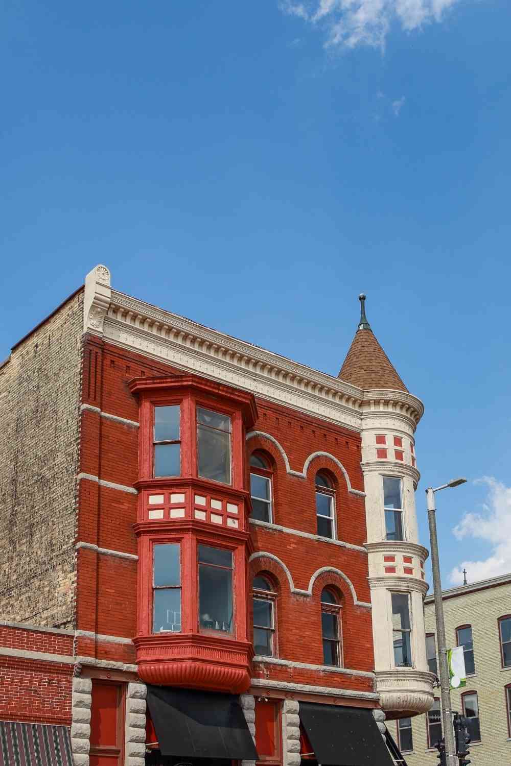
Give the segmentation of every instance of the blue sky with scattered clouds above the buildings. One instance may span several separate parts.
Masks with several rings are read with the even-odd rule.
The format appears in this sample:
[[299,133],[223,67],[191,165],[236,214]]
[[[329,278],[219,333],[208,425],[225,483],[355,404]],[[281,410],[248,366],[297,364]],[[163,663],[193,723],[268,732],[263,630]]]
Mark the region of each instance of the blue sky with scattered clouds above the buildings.
[[424,487],[470,479],[437,498],[444,586],[463,561],[511,571],[509,3],[2,16],[0,355],[103,262],[119,290],[336,375],[364,291],[426,405],[422,542]]

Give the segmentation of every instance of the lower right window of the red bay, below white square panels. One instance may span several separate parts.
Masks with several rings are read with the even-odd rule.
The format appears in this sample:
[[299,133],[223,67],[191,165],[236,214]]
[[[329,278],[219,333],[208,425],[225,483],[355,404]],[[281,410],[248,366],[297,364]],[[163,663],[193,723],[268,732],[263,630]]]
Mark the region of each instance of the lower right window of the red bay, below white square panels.
[[232,633],[232,552],[198,545],[198,613],[201,628]]

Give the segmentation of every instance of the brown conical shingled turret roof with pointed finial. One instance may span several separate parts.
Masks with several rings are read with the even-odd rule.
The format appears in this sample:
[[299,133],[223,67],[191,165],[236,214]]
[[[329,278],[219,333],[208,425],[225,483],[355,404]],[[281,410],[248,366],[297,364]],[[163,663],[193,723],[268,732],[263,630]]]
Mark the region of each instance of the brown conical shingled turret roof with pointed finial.
[[360,295],[359,300],[362,306],[359,328],[337,377],[359,388],[392,388],[408,392],[367,321],[365,295]]

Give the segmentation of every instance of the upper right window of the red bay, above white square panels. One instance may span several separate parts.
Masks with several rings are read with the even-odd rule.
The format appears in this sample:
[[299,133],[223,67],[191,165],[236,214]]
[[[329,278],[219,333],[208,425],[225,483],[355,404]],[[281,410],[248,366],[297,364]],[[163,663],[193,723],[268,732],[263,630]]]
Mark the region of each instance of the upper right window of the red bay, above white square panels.
[[220,412],[197,408],[198,475],[231,483],[231,418]]

